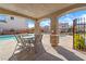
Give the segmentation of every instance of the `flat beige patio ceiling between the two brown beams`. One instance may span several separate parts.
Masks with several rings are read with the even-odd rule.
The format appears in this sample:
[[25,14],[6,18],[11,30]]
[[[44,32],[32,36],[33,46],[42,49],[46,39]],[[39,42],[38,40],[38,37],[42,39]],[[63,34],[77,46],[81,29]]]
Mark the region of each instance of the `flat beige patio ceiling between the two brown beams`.
[[39,18],[70,5],[72,3],[1,3],[0,8]]

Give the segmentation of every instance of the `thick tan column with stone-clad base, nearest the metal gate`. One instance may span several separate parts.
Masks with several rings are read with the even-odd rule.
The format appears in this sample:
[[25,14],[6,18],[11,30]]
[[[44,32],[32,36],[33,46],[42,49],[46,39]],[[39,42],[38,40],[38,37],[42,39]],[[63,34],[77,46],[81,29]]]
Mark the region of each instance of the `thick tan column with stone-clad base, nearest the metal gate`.
[[51,17],[50,42],[52,47],[57,47],[59,43],[59,23],[56,16]]

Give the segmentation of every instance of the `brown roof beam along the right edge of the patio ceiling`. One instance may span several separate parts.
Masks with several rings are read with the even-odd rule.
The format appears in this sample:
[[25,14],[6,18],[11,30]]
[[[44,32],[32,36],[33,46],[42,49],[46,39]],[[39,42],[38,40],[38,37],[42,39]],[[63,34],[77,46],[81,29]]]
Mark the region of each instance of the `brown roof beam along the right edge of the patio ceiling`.
[[51,17],[51,16],[59,16],[59,15],[61,15],[61,14],[63,14],[63,13],[70,11],[70,10],[73,10],[73,9],[76,9],[76,8],[82,8],[82,7],[86,7],[86,3],[72,4],[72,5],[70,5],[70,7],[66,7],[66,8],[64,8],[64,9],[61,9],[61,10],[59,10],[59,11],[57,11],[57,12],[51,13],[51,14],[41,16],[41,17],[39,17],[38,20],[46,18],[46,17]]

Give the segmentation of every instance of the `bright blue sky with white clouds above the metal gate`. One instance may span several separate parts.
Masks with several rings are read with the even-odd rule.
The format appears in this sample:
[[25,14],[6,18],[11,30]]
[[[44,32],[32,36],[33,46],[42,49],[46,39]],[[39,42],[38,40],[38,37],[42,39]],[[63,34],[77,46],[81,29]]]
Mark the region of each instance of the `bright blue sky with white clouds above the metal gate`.
[[65,14],[59,18],[60,23],[69,23],[70,25],[73,24],[74,18],[78,17],[86,17],[86,11],[76,11],[69,14]]

